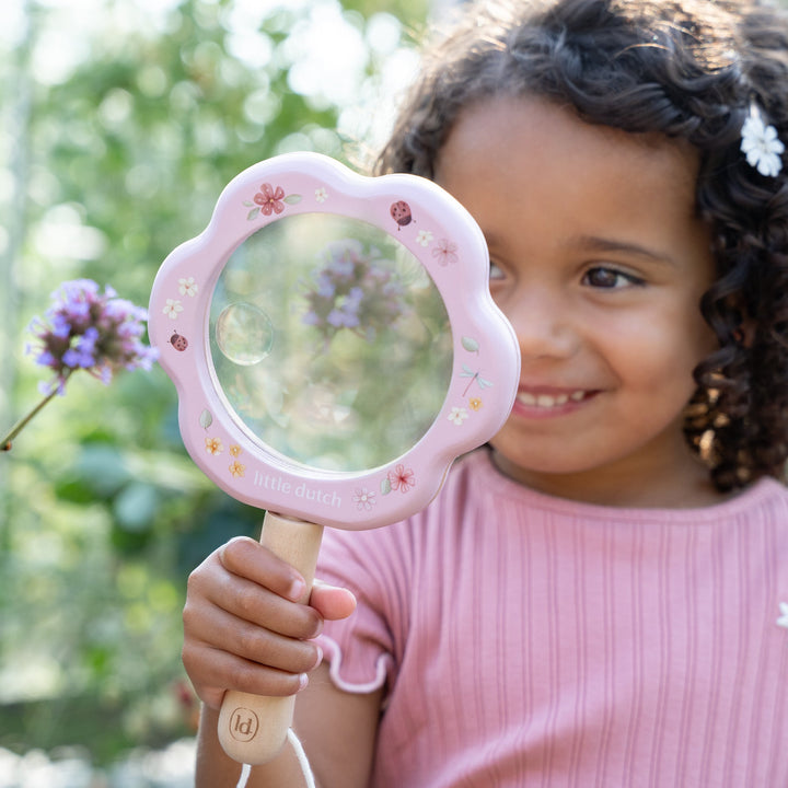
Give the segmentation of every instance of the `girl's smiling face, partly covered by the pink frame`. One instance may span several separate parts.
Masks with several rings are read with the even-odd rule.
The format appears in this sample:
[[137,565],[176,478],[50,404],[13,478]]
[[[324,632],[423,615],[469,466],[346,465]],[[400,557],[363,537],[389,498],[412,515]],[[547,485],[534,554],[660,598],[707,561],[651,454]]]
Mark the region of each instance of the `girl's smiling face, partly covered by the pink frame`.
[[682,434],[692,371],[716,345],[698,309],[714,262],[694,153],[500,99],[461,115],[437,174],[482,227],[490,290],[520,339],[499,467],[592,502],[712,500]]

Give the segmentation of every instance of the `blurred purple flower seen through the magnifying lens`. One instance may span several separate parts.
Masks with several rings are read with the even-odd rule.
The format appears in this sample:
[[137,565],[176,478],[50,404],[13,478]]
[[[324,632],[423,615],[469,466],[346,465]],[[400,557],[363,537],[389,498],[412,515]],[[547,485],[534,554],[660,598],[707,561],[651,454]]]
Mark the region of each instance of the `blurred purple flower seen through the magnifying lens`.
[[322,254],[323,265],[306,291],[303,322],[326,340],[349,328],[369,341],[405,311],[403,287],[381,263],[380,251],[357,239],[335,241]]

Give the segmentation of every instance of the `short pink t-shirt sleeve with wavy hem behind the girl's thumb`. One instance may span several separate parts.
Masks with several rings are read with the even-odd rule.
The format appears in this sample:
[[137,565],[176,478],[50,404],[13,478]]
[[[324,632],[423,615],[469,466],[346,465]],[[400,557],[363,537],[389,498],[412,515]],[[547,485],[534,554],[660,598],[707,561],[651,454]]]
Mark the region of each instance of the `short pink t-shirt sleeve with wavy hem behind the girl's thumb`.
[[326,622],[317,638],[332,681],[345,692],[384,687],[385,696],[396,680],[407,629],[406,547],[397,540],[402,528],[325,531],[316,577],[349,589],[358,601],[349,618]]

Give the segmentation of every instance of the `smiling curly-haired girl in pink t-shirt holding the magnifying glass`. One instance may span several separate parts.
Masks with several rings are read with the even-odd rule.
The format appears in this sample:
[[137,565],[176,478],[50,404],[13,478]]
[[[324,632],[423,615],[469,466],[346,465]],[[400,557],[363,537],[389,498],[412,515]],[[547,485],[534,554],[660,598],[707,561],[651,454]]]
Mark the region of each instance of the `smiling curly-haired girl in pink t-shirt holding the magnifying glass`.
[[[517,403],[424,512],[328,530],[310,605],[250,540],[195,570],[198,785],[241,769],[229,687],[303,690],[323,788],[788,785],[787,139],[765,4],[466,14],[380,172],[482,227]],[[306,785],[297,750],[248,785]]]

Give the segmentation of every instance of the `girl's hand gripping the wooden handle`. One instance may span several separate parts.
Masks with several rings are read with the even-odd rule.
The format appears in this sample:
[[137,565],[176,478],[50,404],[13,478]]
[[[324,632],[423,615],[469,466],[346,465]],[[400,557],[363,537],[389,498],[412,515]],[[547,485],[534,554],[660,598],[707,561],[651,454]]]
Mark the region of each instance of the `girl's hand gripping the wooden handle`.
[[293,695],[323,658],[310,642],[326,619],[346,618],[356,599],[315,582],[310,603],[303,578],[258,542],[231,540],[189,576],[183,662],[199,698],[218,709],[227,690]]

